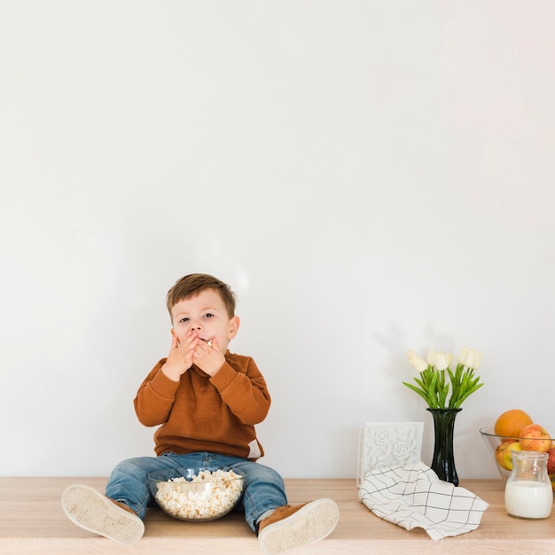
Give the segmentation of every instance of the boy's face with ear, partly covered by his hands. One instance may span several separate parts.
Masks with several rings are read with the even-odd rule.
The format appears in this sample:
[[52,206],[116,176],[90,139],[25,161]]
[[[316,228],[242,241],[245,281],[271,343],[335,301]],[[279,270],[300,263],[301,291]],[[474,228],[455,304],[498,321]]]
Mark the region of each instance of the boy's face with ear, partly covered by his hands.
[[238,332],[238,317],[228,316],[222,297],[213,289],[205,289],[196,297],[177,302],[171,309],[171,330],[181,343],[189,332],[201,340],[215,340],[224,353]]

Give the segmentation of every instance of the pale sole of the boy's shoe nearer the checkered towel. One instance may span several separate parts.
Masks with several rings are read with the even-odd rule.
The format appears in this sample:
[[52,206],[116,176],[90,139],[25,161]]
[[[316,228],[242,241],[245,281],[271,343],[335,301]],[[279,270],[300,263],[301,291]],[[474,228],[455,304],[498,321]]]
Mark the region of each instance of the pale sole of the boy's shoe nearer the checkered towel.
[[275,555],[316,543],[330,535],[340,520],[340,509],[332,499],[317,499],[304,505],[290,517],[262,528],[258,543],[262,553]]

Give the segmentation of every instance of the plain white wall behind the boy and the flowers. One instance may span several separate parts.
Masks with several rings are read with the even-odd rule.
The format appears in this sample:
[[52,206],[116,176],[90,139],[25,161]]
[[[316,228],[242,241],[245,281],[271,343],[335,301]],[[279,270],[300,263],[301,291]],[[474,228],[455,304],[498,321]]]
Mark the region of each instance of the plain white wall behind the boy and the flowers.
[[555,434],[550,0],[0,0],[3,475],[152,454],[132,400],[165,293],[214,273],[273,396],[262,459],[352,477],[358,426],[432,421],[409,348],[481,350],[457,418]]

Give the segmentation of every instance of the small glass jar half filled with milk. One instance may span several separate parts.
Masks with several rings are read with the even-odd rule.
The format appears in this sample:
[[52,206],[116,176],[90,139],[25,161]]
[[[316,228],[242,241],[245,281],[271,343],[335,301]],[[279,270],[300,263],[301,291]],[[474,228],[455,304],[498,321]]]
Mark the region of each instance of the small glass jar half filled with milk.
[[546,519],[553,490],[547,474],[547,453],[512,450],[512,473],[504,489],[507,512],[519,519]]

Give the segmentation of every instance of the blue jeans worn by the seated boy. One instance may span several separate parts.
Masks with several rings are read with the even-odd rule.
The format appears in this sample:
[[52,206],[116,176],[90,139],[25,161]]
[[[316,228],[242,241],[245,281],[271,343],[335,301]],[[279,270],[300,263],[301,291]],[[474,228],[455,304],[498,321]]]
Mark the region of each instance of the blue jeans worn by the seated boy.
[[164,453],[161,457],[128,458],[113,469],[106,484],[106,496],[126,504],[141,519],[145,519],[146,507],[156,505],[148,486],[148,475],[180,466],[204,467],[212,471],[230,466],[244,474],[245,490],[238,509],[245,512],[245,520],[254,532],[257,531],[256,522],[264,512],[287,504],[284,481],[275,470],[246,458],[226,457],[209,452],[186,455]]

